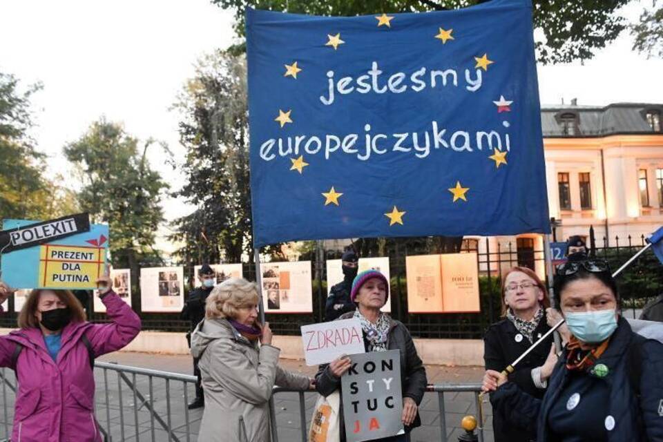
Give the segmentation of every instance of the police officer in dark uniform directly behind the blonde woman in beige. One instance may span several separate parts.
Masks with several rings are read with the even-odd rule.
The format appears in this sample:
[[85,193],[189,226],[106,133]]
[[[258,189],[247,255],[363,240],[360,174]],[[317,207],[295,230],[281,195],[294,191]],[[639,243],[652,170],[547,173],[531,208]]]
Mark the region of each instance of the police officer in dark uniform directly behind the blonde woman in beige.
[[[200,287],[191,291],[189,294],[189,300],[184,304],[182,314],[180,314],[181,319],[191,321],[191,329],[186,334],[186,339],[189,341],[189,347],[191,347],[191,333],[193,332],[193,329],[195,329],[195,326],[205,318],[205,302],[207,296],[209,296],[216,285],[216,273],[211,267],[209,267],[209,265],[205,264],[200,267],[200,270],[198,270],[198,279],[201,283]],[[189,410],[204,407],[205,405],[205,396],[202,392],[202,385],[200,384],[200,369],[198,369],[197,358],[193,358],[193,376],[198,378],[198,381],[195,383],[195,398],[193,399],[193,402],[189,404]]]

